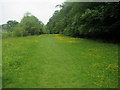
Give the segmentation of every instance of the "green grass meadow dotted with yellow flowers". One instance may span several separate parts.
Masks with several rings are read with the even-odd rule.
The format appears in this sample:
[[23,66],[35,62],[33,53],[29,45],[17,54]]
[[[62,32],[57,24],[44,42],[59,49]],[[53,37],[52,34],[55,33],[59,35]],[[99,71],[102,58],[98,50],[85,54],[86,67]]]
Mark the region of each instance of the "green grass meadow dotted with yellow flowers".
[[118,46],[58,34],[3,40],[3,88],[114,88]]

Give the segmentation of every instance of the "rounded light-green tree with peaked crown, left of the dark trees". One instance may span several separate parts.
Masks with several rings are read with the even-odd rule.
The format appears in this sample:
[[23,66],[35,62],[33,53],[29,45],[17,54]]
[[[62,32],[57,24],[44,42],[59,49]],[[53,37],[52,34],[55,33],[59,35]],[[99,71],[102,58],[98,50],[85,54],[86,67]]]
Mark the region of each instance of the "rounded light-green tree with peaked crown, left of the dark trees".
[[20,22],[26,35],[38,35],[43,33],[43,23],[30,13],[26,13]]

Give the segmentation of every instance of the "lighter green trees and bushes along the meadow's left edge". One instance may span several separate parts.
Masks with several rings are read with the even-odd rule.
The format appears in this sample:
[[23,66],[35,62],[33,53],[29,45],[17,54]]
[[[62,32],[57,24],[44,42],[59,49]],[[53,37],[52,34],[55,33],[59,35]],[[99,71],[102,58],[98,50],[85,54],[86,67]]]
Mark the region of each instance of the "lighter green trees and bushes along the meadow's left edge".
[[20,23],[10,20],[2,25],[2,29],[3,38],[39,35],[45,31],[44,24],[29,12],[25,13]]

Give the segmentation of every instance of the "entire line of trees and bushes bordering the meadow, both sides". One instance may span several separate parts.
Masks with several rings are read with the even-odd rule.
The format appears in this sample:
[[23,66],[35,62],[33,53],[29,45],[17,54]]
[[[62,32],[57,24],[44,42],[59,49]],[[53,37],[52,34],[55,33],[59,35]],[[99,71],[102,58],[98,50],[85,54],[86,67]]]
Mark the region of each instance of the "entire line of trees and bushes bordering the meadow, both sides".
[[54,12],[47,25],[29,12],[20,23],[9,20],[2,25],[3,38],[50,33],[118,40],[119,2],[65,2],[56,7],[60,10]]

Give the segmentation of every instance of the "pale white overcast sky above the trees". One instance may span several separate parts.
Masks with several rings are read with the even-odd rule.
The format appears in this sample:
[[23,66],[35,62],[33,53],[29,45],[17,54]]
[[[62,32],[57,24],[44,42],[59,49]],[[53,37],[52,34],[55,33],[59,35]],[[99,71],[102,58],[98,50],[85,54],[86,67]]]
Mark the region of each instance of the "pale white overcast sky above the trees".
[[8,20],[20,22],[26,12],[32,13],[44,24],[49,21],[56,5],[65,0],[0,0],[0,24]]

